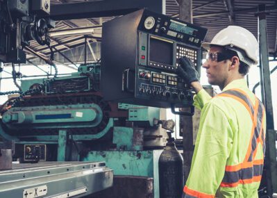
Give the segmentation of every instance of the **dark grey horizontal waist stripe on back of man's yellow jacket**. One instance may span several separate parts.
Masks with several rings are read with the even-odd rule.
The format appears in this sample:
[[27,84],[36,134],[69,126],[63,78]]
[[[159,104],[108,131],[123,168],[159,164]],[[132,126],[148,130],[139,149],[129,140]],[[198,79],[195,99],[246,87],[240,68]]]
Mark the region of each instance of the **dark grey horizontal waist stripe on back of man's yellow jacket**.
[[237,183],[238,181],[243,179],[251,179],[253,178],[253,176],[261,176],[262,168],[263,165],[253,165],[253,167],[248,167],[233,172],[226,171],[222,182]]

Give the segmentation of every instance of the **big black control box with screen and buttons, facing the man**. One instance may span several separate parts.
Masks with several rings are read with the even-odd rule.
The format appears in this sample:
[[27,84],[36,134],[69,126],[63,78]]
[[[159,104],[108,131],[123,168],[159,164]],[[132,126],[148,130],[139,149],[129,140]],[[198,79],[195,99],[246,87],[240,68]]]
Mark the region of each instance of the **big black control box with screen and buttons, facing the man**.
[[103,24],[101,92],[108,101],[169,108],[192,105],[190,86],[178,77],[178,58],[201,67],[206,28],[149,10]]

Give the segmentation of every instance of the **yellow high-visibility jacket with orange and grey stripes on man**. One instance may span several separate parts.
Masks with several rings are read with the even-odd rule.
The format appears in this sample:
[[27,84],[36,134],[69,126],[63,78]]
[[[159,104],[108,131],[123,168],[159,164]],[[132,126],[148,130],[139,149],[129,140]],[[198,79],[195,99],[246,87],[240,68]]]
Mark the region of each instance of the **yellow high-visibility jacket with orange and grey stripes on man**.
[[201,90],[201,109],[184,197],[258,197],[265,156],[265,108],[244,79],[211,98]]

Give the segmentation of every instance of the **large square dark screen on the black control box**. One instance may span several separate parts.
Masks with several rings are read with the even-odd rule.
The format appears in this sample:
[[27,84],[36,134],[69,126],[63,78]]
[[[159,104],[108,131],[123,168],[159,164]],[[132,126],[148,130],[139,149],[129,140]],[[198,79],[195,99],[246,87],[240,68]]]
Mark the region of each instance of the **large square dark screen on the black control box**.
[[173,42],[151,37],[149,60],[165,65],[173,65]]

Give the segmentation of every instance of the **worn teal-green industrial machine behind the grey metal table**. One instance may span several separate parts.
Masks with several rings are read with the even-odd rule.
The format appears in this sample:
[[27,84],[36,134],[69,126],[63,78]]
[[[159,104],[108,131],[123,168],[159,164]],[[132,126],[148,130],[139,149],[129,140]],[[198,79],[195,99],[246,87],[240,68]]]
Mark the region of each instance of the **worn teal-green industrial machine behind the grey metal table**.
[[[81,65],[6,110],[17,100],[10,99],[1,109],[0,134],[15,142],[21,163],[105,162],[115,175],[154,178],[149,185],[158,197],[158,157],[167,142],[158,120],[166,119],[166,110],[104,101],[100,67]],[[22,81],[22,91],[44,82]]]

